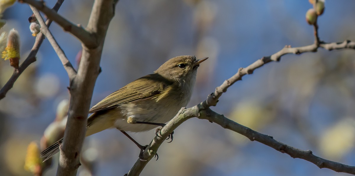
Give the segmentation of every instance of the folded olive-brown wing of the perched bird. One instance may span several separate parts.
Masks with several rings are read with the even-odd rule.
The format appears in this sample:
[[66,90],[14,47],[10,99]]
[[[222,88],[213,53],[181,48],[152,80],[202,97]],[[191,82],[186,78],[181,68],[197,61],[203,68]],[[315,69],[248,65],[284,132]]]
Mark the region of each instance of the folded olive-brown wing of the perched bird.
[[89,110],[89,113],[118,107],[120,104],[140,99],[153,98],[162,94],[172,84],[173,82],[159,74],[143,76],[98,102]]

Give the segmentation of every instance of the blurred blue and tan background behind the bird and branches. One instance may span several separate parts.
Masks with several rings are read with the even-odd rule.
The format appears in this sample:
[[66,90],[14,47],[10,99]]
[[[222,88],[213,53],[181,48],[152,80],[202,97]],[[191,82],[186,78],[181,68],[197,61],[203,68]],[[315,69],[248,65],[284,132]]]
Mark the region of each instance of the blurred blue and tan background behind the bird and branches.
[[[46,3],[53,7],[55,1]],[[59,13],[86,26],[92,4],[92,0],[66,0]],[[353,0],[326,1],[325,12],[318,18],[320,39],[354,41],[354,6]],[[196,55],[209,57],[199,68],[188,107],[196,105],[240,67],[285,45],[312,44],[313,27],[305,21],[309,8],[312,5],[307,0],[120,0],[108,30],[102,72],[91,104],[151,74],[169,58]],[[20,63],[35,40],[28,28],[31,14],[28,5],[16,2],[3,17],[7,23],[1,31],[16,28],[20,33]],[[80,42],[55,23],[50,30],[77,67]],[[279,63],[264,65],[235,83],[212,110],[280,142],[355,165],[354,58],[353,50],[319,49],[317,53],[285,55]],[[0,61],[1,87],[12,70],[9,61]],[[40,145],[48,125],[65,114],[67,86],[67,74],[44,40],[37,61],[0,101],[1,175],[33,175],[24,169],[27,147],[32,141],[30,146]],[[146,145],[154,130],[130,135]],[[139,149],[118,130],[102,131],[86,138],[78,175],[124,175],[138,154]],[[141,175],[347,175],[319,169],[197,118],[180,125],[174,141],[164,143],[158,154],[159,160],[149,162]],[[44,175],[55,174],[58,158],[58,154],[53,157]]]

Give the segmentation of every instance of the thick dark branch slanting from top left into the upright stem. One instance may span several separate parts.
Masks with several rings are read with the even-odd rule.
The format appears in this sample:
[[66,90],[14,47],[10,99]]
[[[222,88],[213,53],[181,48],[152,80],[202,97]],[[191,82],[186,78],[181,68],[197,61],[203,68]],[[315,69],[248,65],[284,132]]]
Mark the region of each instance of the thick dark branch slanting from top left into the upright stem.
[[89,33],[87,30],[82,28],[81,25],[75,25],[69,20],[62,17],[56,11],[51,10],[50,8],[44,5],[44,1],[21,0],[21,2],[26,2],[27,4],[37,8],[39,11],[42,11],[47,16],[47,18],[58,23],[65,31],[77,37],[77,39],[80,40],[81,43],[83,43],[88,48],[96,48],[98,46],[95,35]]

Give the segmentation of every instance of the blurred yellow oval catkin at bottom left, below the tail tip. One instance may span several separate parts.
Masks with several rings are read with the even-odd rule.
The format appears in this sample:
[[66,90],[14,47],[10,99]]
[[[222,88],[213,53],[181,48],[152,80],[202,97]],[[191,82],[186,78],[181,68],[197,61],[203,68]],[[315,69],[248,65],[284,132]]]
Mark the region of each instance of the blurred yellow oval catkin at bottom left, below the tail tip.
[[27,154],[24,160],[24,169],[32,174],[38,174],[41,170],[39,148],[35,142],[29,143],[27,147]]

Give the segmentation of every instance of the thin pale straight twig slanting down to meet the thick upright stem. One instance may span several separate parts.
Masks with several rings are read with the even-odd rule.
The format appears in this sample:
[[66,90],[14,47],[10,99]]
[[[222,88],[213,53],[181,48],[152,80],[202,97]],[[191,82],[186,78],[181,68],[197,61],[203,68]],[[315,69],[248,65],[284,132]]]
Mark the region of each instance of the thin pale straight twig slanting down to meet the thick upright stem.
[[68,58],[65,56],[64,51],[60,48],[60,46],[58,45],[58,43],[55,41],[53,35],[51,34],[51,32],[49,31],[49,29],[47,28],[47,25],[44,23],[44,20],[42,18],[42,16],[39,14],[39,11],[33,7],[32,5],[30,5],[34,15],[36,16],[41,29],[40,31],[47,37],[48,41],[50,42],[50,44],[52,45],[53,49],[55,50],[55,52],[57,53],[60,61],[62,62],[64,69],[67,71],[68,76],[69,76],[69,80],[71,82],[71,80],[73,80],[73,78],[76,75],[76,71],[73,68],[72,64],[70,63],[70,61],[68,60]]

